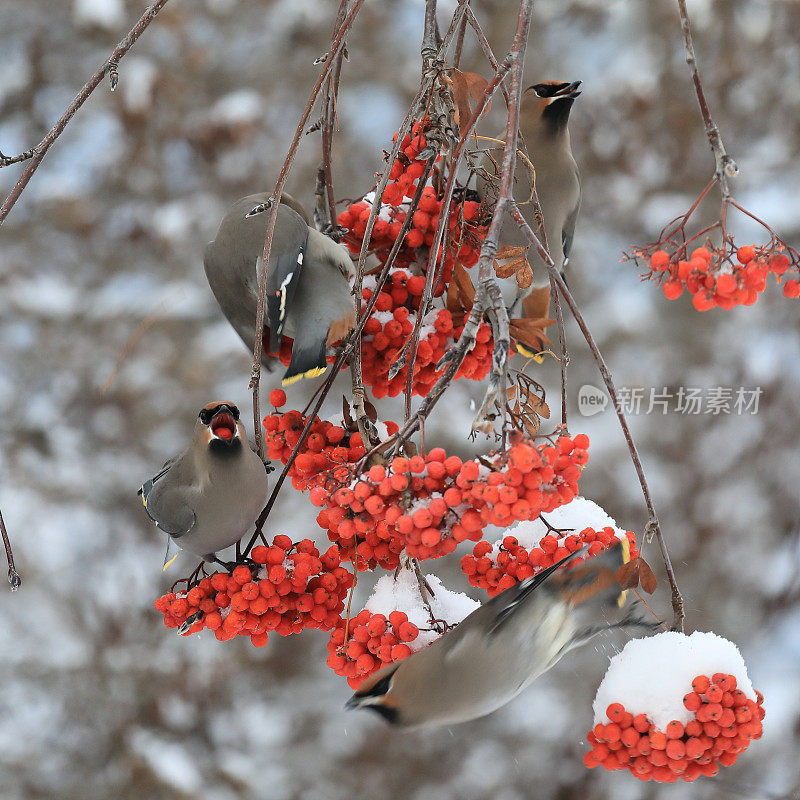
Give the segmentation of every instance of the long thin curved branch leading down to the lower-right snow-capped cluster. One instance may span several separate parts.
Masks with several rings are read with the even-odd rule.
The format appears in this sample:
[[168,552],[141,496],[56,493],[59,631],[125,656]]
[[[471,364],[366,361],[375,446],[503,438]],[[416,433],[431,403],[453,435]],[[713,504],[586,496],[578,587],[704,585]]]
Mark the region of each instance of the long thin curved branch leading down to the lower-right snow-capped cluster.
[[516,220],[520,229],[528,238],[528,241],[530,241],[530,243],[537,249],[539,255],[547,264],[551,282],[555,283],[558,291],[561,292],[562,297],[569,306],[569,309],[572,312],[572,316],[578,323],[578,327],[581,329],[581,333],[583,334],[584,339],[586,339],[586,344],[589,345],[589,349],[592,352],[592,356],[594,357],[594,360],[597,363],[597,367],[600,370],[600,375],[602,376],[603,382],[605,383],[606,389],[608,390],[608,394],[611,397],[611,402],[614,404],[614,411],[616,412],[617,418],[619,419],[619,424],[620,427],[622,428],[622,433],[625,437],[625,442],[628,445],[628,451],[630,452],[631,461],[633,462],[634,469],[636,470],[636,475],[639,478],[639,485],[642,487],[642,494],[644,496],[645,505],[647,506],[647,512],[650,517],[647,526],[645,528],[646,537],[648,541],[652,536],[656,537],[656,539],[658,540],[659,549],[661,550],[661,556],[664,559],[664,567],[666,568],[667,578],[669,580],[669,585],[672,590],[672,610],[673,610],[672,629],[676,631],[683,631],[683,621],[685,618],[683,609],[683,597],[681,596],[680,590],[678,589],[677,579],[675,578],[675,571],[672,567],[672,560],[670,559],[669,552],[667,550],[667,545],[666,542],[664,541],[664,536],[661,531],[661,525],[659,524],[655,506],[653,504],[653,500],[650,495],[650,487],[647,484],[647,478],[645,477],[644,474],[642,461],[639,458],[639,451],[636,447],[636,443],[633,440],[633,436],[631,435],[630,428],[628,427],[628,421],[625,418],[625,413],[622,411],[622,406],[619,402],[619,396],[617,394],[616,385],[614,384],[614,379],[611,377],[611,372],[608,369],[608,365],[606,364],[605,359],[600,353],[600,350],[597,347],[597,343],[595,342],[594,337],[591,334],[591,331],[586,325],[586,321],[584,320],[583,315],[578,309],[577,303],[575,302],[575,298],[572,296],[572,292],[570,292],[569,287],[564,282],[564,279],[561,277],[561,275],[559,275],[558,270],[556,270],[552,258],[550,258],[549,254],[544,249],[544,247],[542,247],[541,242],[531,229],[530,225],[528,225],[528,223],[525,221],[525,218],[522,216],[520,210],[516,207],[516,205],[513,204],[511,206],[511,216]]

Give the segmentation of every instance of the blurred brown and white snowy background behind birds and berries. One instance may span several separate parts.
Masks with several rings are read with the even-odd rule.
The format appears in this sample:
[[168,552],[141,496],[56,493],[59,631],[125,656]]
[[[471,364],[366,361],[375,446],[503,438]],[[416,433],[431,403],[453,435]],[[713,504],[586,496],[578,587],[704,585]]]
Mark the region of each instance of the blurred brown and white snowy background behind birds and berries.
[[[592,697],[621,639],[570,654],[486,719],[397,734],[342,710],[349,692],[324,664],[325,634],[274,636],[257,650],[246,640],[179,639],[162,626],[153,600],[185,564],[162,575],[164,543],[136,489],[184,445],[204,403],[224,396],[249,407],[247,353],[212,300],[202,250],[229,203],[274,182],[336,5],[173,0],[122,61],[118,90],[95,92],[0,231],[0,508],[24,579],[15,595],[0,587],[0,795],[797,796],[797,305],[771,286],[752,308],[700,315],[619,263],[623,248],[650,241],[688,207],[712,169],[672,0],[539,0],[527,75],[585,82],[571,126],[584,185],[571,281],[618,383],[763,388],[755,416],[672,410],[632,425],[689,630],[739,645],[766,697],[764,738],[719,779],[681,788],[584,769]],[[473,5],[504,52],[515,4]],[[709,100],[741,168],[737,197],[797,246],[800,3],[689,6]],[[41,139],[143,7],[0,4],[4,153]],[[373,0],[349,37],[337,197],[368,188],[416,89],[422,14],[420,2]],[[465,64],[484,70],[469,40]],[[317,148],[317,136],[306,137],[289,181],[306,203]],[[0,171],[3,194],[20,171]],[[751,229],[738,230],[746,242]],[[147,330],[102,391],[143,320]],[[568,335],[571,428],[592,440],[583,491],[623,527],[641,529],[612,412],[577,414],[577,388],[599,382],[574,325]],[[540,376],[556,406],[553,363]],[[302,407],[309,391],[294,389],[290,402]],[[479,392],[454,387],[428,442],[469,452],[464,409]],[[271,533],[322,541],[290,489],[274,519],[281,527]],[[667,613],[655,547],[645,554],[662,580],[654,602]],[[465,590],[458,558],[427,568]],[[362,585],[356,608],[369,581]]]

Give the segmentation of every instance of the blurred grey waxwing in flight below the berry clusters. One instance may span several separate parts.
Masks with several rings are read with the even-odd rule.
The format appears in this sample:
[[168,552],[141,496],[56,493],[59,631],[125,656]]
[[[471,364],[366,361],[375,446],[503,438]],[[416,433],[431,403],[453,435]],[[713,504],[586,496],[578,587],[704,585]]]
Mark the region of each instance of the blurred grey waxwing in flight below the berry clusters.
[[402,727],[466,722],[508,703],[601,631],[653,629],[635,607],[620,611],[616,572],[627,548],[556,571],[583,552],[506,589],[432,644],[370,675],[345,707],[371,709]]

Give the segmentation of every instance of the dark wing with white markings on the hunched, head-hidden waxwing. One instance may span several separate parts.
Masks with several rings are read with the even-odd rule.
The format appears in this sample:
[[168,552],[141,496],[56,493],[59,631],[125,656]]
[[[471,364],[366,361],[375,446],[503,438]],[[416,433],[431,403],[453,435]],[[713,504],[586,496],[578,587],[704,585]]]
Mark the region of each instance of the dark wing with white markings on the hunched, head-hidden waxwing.
[[280,206],[267,270],[267,317],[273,353],[278,352],[281,344],[286,314],[297,291],[307,244],[308,225],[296,211]]

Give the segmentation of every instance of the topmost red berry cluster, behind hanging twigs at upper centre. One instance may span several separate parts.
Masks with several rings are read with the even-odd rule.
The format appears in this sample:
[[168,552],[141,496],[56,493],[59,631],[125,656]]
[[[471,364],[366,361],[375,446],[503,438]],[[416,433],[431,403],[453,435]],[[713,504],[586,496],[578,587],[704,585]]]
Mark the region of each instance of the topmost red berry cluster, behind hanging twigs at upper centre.
[[[428,145],[424,135],[428,124],[427,118],[414,123],[411,133],[403,137],[400,154],[392,164],[389,183],[383,192],[381,210],[375,220],[370,239],[370,249],[378,253],[388,253],[400,235],[411,198],[416,192],[416,184],[425,172],[424,161],[418,158]],[[394,141],[397,141],[397,134],[394,135]],[[348,230],[344,244],[352,253],[361,250],[373,199],[374,193],[366,195],[364,199],[346,208],[338,217],[339,225]],[[430,248],[433,245],[441,210],[442,202],[436,198],[434,188],[426,186],[414,212],[411,226],[405,235],[406,252],[398,254],[399,263],[416,260],[413,253],[416,248]],[[480,242],[485,234],[485,228],[477,224],[479,215],[480,203],[475,201],[465,200],[451,204],[449,228],[452,245],[445,257],[443,275],[445,282],[450,280],[455,258],[458,258],[465,267],[471,267],[477,262]]]

